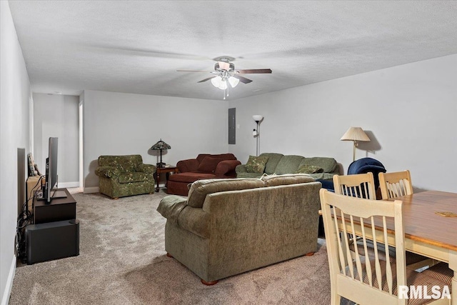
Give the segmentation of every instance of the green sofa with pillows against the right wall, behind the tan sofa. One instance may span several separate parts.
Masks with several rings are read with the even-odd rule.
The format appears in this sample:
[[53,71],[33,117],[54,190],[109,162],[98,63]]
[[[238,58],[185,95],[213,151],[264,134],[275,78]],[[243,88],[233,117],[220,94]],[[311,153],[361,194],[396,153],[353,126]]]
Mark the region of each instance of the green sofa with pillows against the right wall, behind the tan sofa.
[[[268,157],[265,169],[262,172],[248,172],[246,164],[236,166],[237,178],[258,178],[264,173],[271,174],[296,174],[303,166],[314,166],[319,168],[318,173],[310,174],[314,179],[329,180],[333,179],[333,175],[340,174],[340,169],[336,160],[328,157],[312,157],[306,158],[304,156],[296,155],[283,155],[275,153],[264,153],[260,156]],[[303,174],[303,173],[302,173]]]

